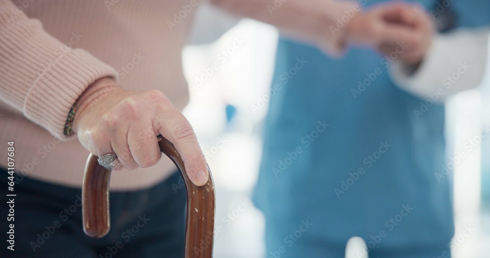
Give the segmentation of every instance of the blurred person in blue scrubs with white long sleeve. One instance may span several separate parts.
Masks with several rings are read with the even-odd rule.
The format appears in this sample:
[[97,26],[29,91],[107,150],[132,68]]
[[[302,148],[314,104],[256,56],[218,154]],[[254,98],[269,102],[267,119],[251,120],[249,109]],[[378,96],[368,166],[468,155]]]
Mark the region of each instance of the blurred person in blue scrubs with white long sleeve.
[[[254,193],[266,217],[268,258],[344,257],[356,235],[367,243],[358,258],[450,257],[443,100],[483,77],[490,4],[358,4],[361,11],[344,11],[326,33],[344,31],[347,45],[367,46],[369,38],[368,47],[325,52],[279,40]],[[386,6],[399,12],[377,16]],[[377,39],[368,17],[413,34]]]

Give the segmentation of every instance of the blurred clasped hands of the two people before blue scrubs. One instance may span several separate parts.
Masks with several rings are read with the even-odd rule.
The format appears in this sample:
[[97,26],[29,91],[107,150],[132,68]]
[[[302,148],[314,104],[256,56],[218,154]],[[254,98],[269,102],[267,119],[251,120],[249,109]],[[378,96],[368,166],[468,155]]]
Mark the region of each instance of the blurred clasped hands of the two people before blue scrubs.
[[[433,33],[434,25],[422,7],[397,2],[377,5],[354,16],[347,40],[376,47],[384,54],[396,51],[401,61],[417,65],[427,53]],[[401,44],[406,47],[400,50]]]

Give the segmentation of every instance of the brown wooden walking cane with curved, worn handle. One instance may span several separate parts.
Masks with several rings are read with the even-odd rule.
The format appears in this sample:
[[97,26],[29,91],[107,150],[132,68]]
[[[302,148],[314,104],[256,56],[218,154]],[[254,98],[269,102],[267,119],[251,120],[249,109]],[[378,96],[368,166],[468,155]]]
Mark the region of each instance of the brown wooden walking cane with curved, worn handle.
[[[185,258],[212,258],[215,217],[215,189],[211,171],[206,185],[197,187],[187,176],[184,162],[172,142],[158,136],[160,150],[177,166],[187,192]],[[106,169],[90,154],[85,166],[82,187],[83,230],[99,238],[109,232],[109,180]],[[209,169],[209,167],[208,167]]]

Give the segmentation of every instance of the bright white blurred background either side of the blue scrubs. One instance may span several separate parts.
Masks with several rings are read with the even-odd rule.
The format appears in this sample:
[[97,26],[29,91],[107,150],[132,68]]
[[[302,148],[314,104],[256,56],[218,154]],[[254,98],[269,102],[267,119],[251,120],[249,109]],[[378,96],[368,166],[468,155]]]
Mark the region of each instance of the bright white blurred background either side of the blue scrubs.
[[[216,184],[215,227],[222,230],[215,235],[214,257],[263,258],[264,217],[248,204],[257,179],[268,98],[259,111],[251,105],[269,92],[278,32],[264,23],[238,22],[209,7],[199,12],[193,36],[199,45],[183,52],[191,92],[184,114],[196,130]],[[490,257],[490,139],[471,152],[464,149],[481,125],[490,125],[489,74],[480,89],[458,94],[446,104],[448,158],[466,152],[454,170],[454,258]],[[466,226],[476,232],[463,236]]]

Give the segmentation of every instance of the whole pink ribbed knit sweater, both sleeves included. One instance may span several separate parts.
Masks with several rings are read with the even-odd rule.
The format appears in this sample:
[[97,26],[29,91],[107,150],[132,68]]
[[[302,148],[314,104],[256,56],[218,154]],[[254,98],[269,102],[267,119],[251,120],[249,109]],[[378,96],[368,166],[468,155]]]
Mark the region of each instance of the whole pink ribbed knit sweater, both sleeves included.
[[[343,31],[332,34],[329,26],[335,26],[344,9],[353,8],[352,3],[311,0],[318,4],[308,6],[289,0],[271,14],[272,0],[214,2],[289,31],[300,30],[297,35],[332,51],[340,49]],[[80,187],[89,152],[75,135],[64,136],[63,129],[78,96],[102,77],[115,78],[125,89],[158,89],[182,109],[188,87],[181,50],[201,4],[200,0],[0,0],[0,145],[5,147],[0,166],[7,164],[7,141],[15,141],[18,174]],[[174,170],[164,157],[153,167],[113,173],[111,188],[149,187]],[[22,184],[22,177],[18,179]]]

